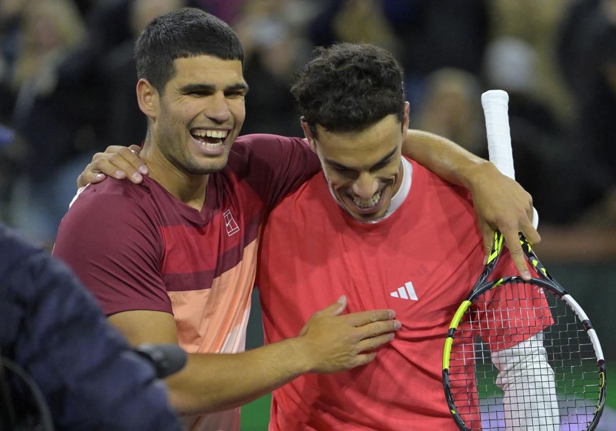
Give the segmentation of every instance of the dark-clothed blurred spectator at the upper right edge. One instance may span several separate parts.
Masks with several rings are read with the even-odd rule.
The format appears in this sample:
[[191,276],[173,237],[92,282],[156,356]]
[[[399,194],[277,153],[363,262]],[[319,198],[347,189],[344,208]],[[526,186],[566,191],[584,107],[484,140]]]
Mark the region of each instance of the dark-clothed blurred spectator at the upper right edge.
[[579,0],[559,39],[559,62],[575,96],[577,163],[584,167],[583,206],[616,185],[616,1]]

